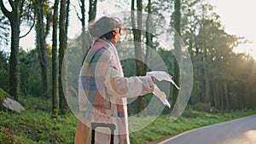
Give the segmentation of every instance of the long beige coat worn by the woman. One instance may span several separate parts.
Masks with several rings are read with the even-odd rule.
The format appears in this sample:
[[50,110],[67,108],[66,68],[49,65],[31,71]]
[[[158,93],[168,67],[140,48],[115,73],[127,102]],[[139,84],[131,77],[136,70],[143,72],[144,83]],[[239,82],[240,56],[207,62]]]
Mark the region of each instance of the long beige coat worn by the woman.
[[[98,92],[100,94],[95,93],[96,95],[92,96],[94,96],[93,100],[97,101],[97,95],[103,95],[102,97],[104,97],[105,100],[101,100],[105,102],[102,102],[102,106],[100,108],[96,108],[99,104],[96,105],[96,103],[93,103],[94,101],[89,102],[88,104],[88,101],[91,98],[88,98],[90,93],[88,92],[87,86],[90,88],[90,85],[83,85],[83,82],[79,82],[82,83],[82,86],[79,86],[80,116],[77,124],[75,143],[90,144],[90,124],[96,122],[115,124],[117,128],[114,131],[114,143],[129,144],[130,141],[126,98],[145,95],[153,92],[154,82],[149,76],[125,78],[119,62],[117,51],[113,44],[109,43],[107,40],[96,40],[90,49],[92,52],[89,53],[89,55],[97,55],[97,53],[99,53],[98,51],[102,49],[101,47],[104,50],[102,50],[99,60],[97,60],[97,65],[94,65],[96,68],[93,69],[94,71],[100,72],[89,72],[92,65],[89,62],[90,60],[86,61],[85,59],[80,76],[84,77],[84,79],[90,79],[88,77],[91,75],[91,73],[103,75],[104,80],[98,85],[103,83],[104,89],[98,90],[100,91]],[[91,83],[84,82],[84,84]],[[106,102],[106,100],[108,101]],[[98,101],[98,103],[101,104],[101,101]],[[103,109],[101,109],[102,107]],[[122,116],[120,116],[119,113],[122,113]],[[97,128],[95,141],[97,144],[108,144],[110,142],[110,130],[108,128]]]

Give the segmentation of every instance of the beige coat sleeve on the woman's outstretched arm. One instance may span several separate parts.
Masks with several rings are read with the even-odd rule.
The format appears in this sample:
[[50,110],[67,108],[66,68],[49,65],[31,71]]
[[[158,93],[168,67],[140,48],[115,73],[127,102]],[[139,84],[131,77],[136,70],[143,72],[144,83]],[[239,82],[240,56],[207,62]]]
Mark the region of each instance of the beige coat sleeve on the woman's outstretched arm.
[[110,60],[105,72],[104,82],[109,95],[129,98],[146,95],[154,91],[154,82],[151,77],[125,78],[120,75],[119,71],[121,70],[113,64],[113,60]]

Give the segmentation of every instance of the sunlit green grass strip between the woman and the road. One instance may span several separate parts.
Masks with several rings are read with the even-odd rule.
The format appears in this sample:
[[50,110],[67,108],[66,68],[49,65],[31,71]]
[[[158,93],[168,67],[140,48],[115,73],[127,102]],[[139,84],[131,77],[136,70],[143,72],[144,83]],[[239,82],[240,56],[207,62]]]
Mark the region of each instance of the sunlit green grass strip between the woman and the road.
[[182,116],[180,118],[177,118],[177,120],[174,122],[170,121],[170,116],[161,115],[152,124],[149,124],[148,127],[146,127],[145,129],[131,133],[131,143],[140,144],[148,143],[149,141],[153,141],[151,143],[154,143],[159,139],[165,139],[167,137],[177,135],[187,130],[193,130],[195,128],[199,128],[209,124],[217,124],[231,119],[252,115],[255,114],[256,111],[246,110],[216,114],[191,111],[189,113],[190,118],[185,118]]

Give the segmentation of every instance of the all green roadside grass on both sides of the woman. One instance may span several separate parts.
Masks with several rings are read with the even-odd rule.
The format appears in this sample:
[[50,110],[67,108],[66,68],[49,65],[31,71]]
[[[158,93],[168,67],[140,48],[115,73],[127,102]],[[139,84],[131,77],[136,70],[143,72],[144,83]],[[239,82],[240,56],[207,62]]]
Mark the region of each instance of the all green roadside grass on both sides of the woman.
[[[191,111],[191,110],[190,110]],[[207,113],[191,111],[190,118],[180,117],[170,121],[170,116],[161,115],[145,129],[131,133],[131,143],[141,144],[157,141],[208,124],[216,124],[256,113],[253,110],[230,113]],[[0,112],[0,143],[73,143],[77,118],[67,114],[51,118],[48,112]],[[195,116],[196,117],[195,117]],[[144,118],[147,120],[147,118]]]

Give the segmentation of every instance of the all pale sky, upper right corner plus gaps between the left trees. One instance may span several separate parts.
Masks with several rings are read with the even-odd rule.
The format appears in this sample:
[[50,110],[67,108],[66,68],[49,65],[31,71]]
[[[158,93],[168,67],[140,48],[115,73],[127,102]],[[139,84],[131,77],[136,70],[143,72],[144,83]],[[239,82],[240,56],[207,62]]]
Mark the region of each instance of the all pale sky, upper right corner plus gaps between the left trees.
[[[215,6],[215,12],[220,15],[220,19],[224,25],[224,29],[229,34],[239,37],[246,37],[252,43],[243,44],[234,49],[236,53],[245,52],[252,55],[256,60],[256,0],[207,0]],[[74,5],[78,5],[78,0],[71,1]],[[122,0],[106,0],[98,3],[97,15],[102,15],[109,11],[112,3],[119,3],[122,10],[130,10],[130,6]],[[113,11],[118,11],[114,9]],[[79,35],[81,25],[75,14],[74,8],[71,8],[70,27],[68,37],[72,38]],[[20,45],[23,49],[29,50],[34,48],[34,32],[27,37],[20,39]],[[50,40],[50,37],[49,37]]]

